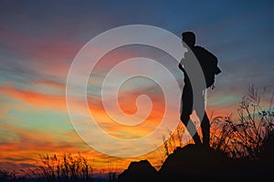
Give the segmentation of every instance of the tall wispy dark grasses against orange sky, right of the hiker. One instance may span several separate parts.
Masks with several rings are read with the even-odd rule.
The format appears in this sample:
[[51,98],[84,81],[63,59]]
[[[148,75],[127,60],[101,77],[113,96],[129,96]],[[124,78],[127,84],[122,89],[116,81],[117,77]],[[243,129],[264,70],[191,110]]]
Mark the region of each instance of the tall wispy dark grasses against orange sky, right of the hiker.
[[269,107],[262,108],[258,89],[249,86],[248,96],[239,103],[237,122],[230,116],[213,118],[211,147],[225,151],[229,157],[257,159],[265,139],[274,131],[273,94]]

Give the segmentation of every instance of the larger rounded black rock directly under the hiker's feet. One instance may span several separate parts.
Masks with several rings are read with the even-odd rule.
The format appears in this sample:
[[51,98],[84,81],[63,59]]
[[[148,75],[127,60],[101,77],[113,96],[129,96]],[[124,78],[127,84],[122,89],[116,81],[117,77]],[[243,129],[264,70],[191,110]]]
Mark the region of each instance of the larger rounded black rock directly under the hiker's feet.
[[230,160],[221,152],[213,151],[203,146],[188,145],[178,147],[163,163],[159,170],[160,177],[168,181],[214,180],[226,175],[224,164],[231,166]]

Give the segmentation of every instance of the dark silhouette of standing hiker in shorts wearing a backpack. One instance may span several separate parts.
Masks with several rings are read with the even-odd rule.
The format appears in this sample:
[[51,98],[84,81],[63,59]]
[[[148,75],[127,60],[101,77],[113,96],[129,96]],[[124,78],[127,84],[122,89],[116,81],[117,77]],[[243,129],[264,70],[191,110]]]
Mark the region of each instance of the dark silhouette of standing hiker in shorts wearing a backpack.
[[[207,51],[204,47],[195,45],[195,34],[193,32],[184,32],[182,33],[183,44],[186,44],[191,51],[194,53],[197,58],[200,66],[202,67],[204,76],[205,76],[205,87],[199,88],[197,91],[198,95],[203,97],[201,100],[205,100],[205,89],[211,87],[212,89],[215,87],[215,76],[221,73],[221,70],[217,66],[217,58],[212,53]],[[186,53],[187,54],[187,53]],[[184,88],[182,93],[181,100],[181,121],[184,123],[184,126],[188,125],[188,132],[195,141],[196,145],[203,145],[205,147],[209,147],[209,137],[210,137],[210,128],[209,128],[209,119],[206,115],[205,109],[195,109],[194,98],[193,98],[193,89],[191,86],[191,82],[189,77],[186,74],[184,69],[184,63],[187,61],[191,61],[187,59],[187,56],[184,56],[181,63],[179,64],[179,68],[184,72]],[[196,90],[195,90],[196,91]],[[205,108],[205,102],[198,103],[199,108]],[[203,116],[201,121],[202,135],[203,135],[203,143],[201,142],[200,136],[198,135],[195,124],[190,120],[190,115],[192,115],[193,110],[195,109],[197,116]],[[197,113],[197,112],[204,113]],[[201,120],[201,118],[200,118]]]

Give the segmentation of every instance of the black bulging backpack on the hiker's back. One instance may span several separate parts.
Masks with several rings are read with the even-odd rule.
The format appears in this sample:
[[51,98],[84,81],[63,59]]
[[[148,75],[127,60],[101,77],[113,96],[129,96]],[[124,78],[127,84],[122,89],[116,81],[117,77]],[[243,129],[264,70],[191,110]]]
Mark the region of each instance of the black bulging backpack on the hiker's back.
[[217,57],[202,46],[195,45],[193,52],[204,72],[206,88],[211,87],[213,89],[215,87],[215,76],[221,73],[220,68],[217,66]]

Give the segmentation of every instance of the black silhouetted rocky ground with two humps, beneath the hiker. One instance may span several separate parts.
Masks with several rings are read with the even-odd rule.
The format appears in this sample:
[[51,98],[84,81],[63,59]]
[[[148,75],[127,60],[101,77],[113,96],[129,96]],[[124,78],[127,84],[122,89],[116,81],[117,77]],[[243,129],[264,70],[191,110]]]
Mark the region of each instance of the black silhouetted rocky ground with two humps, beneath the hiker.
[[[266,152],[273,158],[269,150]],[[271,181],[274,162],[268,155],[259,161],[232,159],[221,151],[188,145],[178,147],[158,172],[147,160],[132,162],[118,181]]]

